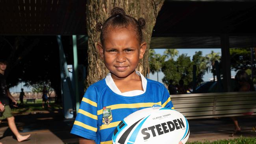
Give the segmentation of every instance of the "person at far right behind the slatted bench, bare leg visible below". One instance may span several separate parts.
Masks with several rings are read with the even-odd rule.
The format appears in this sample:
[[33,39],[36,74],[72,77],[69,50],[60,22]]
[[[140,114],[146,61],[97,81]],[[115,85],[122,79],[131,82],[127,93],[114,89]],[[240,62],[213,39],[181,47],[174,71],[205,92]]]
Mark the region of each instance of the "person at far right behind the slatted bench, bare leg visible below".
[[[255,91],[252,80],[250,79],[250,77],[248,76],[248,74],[244,71],[244,70],[239,70],[235,76],[235,80],[237,83],[237,87],[235,88],[234,91],[237,92],[248,92],[248,91]],[[244,113],[245,115],[251,115],[253,114],[253,112],[250,113]],[[241,133],[241,127],[238,124],[237,118],[236,117],[231,117],[231,119],[234,122],[234,132],[232,134],[232,136],[234,134],[239,134]]]

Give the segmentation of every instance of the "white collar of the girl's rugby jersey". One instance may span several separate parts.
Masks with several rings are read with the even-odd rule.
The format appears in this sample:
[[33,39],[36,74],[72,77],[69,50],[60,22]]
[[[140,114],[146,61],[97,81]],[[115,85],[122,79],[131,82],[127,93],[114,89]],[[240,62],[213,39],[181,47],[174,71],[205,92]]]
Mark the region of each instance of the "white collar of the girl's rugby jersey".
[[108,75],[106,76],[106,84],[108,85],[108,87],[115,92],[116,94],[119,94],[121,96],[138,96],[141,94],[144,94],[146,92],[147,89],[147,79],[139,72],[139,71],[135,71],[135,73],[141,77],[141,81],[142,81],[142,87],[143,90],[132,90],[132,91],[128,91],[128,92],[121,92],[118,88],[117,85],[115,85],[114,80],[111,77],[111,73],[109,72]]

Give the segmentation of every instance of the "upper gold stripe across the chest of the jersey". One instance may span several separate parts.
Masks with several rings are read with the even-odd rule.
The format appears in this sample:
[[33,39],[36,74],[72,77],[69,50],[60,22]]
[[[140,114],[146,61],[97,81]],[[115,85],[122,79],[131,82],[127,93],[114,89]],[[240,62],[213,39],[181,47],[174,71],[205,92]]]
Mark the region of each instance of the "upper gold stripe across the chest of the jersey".
[[[124,104],[115,104],[106,106],[106,108],[113,109],[122,109],[122,108],[139,108],[139,107],[152,107],[153,105],[161,105],[161,102],[157,103],[124,103]],[[165,104],[166,105],[166,104]],[[97,111],[97,114],[102,114],[102,109]]]

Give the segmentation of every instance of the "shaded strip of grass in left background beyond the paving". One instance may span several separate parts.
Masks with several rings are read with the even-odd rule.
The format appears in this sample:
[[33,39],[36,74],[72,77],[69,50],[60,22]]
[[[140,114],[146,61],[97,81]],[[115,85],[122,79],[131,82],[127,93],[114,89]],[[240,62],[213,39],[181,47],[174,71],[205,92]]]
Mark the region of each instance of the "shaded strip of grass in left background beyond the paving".
[[[35,100],[35,103],[28,102],[26,103],[26,100],[24,100],[24,105],[19,107],[12,107],[12,113],[14,115],[17,114],[30,114],[30,113],[36,113],[41,112],[44,113],[46,111],[59,111],[62,109],[61,104],[56,104],[54,101],[51,101],[50,107],[47,107],[45,104],[45,108],[42,107],[42,99]],[[20,101],[17,101],[20,103]]]

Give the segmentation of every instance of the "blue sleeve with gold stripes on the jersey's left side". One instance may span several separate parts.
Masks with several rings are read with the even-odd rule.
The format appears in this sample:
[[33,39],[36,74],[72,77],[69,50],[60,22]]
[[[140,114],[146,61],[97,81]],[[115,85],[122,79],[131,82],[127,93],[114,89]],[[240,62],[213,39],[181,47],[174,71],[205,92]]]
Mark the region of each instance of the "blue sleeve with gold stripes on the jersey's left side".
[[96,140],[98,130],[96,90],[89,87],[82,99],[76,120],[70,133],[83,138]]

